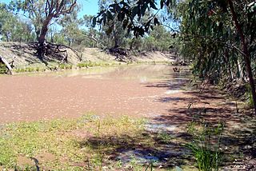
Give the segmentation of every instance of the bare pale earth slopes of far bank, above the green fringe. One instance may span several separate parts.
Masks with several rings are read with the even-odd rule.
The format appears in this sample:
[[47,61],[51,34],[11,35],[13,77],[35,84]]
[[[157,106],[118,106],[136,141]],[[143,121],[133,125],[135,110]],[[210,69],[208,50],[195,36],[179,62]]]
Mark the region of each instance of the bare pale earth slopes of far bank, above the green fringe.
[[[78,50],[78,56],[70,49],[67,49],[69,64],[76,66],[82,62],[109,62],[118,63],[116,56],[107,54],[106,51],[98,48],[82,48]],[[13,62],[13,69],[24,69],[26,67],[49,70],[50,66],[58,66],[60,61],[51,56],[47,57],[48,67],[39,60],[36,50],[27,43],[20,42],[0,42],[0,55],[7,62]],[[130,54],[129,58],[134,62],[174,62],[174,54],[163,52],[143,52],[142,54]]]

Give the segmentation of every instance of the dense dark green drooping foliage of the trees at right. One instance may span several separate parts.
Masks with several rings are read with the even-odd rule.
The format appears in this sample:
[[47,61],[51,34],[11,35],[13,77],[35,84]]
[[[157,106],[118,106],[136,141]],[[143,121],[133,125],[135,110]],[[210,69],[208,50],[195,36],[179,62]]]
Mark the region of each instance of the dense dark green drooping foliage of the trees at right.
[[[256,22],[256,16],[246,10],[248,5],[235,2],[234,9],[242,23],[246,42],[254,49],[254,29],[248,26]],[[182,54],[194,62],[194,74],[213,83],[222,78],[245,80],[246,66],[241,53],[240,34],[228,10],[230,6],[221,1],[193,0],[182,2],[179,8],[182,16]],[[252,49],[249,58],[254,63],[255,50]]]

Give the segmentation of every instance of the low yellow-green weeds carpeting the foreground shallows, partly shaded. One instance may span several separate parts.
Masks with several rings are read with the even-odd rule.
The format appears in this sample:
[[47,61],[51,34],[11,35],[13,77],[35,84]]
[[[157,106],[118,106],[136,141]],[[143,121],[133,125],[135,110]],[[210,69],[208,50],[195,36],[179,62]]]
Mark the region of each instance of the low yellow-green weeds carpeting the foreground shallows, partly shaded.
[[78,119],[1,125],[0,170],[36,170],[31,158],[38,160],[40,170],[155,170],[156,161],[141,165],[136,157],[128,163],[115,158],[122,153],[118,150],[158,151],[174,143],[168,133],[145,132],[145,123],[134,117],[87,113]]

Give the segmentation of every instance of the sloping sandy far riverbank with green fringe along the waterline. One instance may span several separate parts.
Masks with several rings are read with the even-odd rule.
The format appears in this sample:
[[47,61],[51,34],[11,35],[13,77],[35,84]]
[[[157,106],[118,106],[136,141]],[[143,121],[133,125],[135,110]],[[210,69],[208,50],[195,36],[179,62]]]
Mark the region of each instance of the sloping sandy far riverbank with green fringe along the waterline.
[[[36,50],[29,43],[0,42],[0,55],[13,67],[14,73],[70,70],[94,66],[118,66],[142,63],[175,63],[174,54],[167,52],[131,52],[124,61],[98,48],[83,48],[60,54],[61,57],[47,56],[39,59]],[[63,59],[65,59],[63,61]],[[5,72],[2,66],[2,73]]]

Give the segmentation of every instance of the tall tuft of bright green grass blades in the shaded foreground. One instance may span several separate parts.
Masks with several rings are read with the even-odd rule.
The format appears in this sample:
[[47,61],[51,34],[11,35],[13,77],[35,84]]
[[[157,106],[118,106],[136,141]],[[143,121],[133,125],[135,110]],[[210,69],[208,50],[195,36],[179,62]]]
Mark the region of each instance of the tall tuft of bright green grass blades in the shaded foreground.
[[198,169],[202,171],[218,170],[222,163],[220,143],[224,125],[211,127],[206,123],[198,124],[192,121],[188,124],[188,133],[193,136],[193,141],[186,144],[197,160]]

